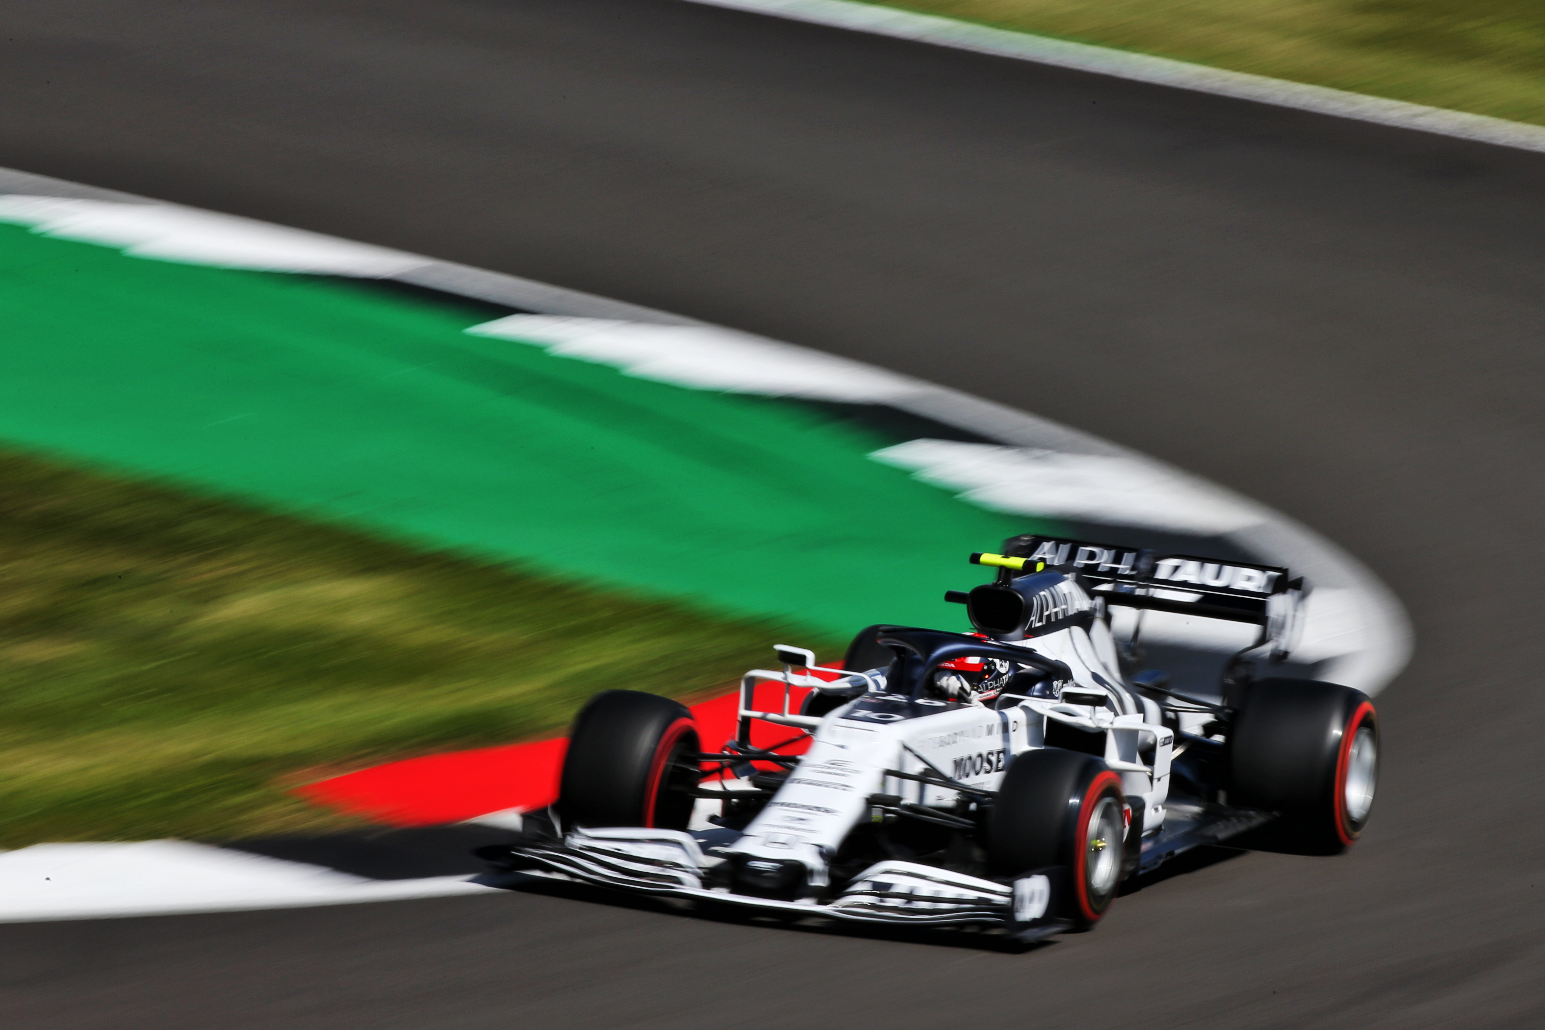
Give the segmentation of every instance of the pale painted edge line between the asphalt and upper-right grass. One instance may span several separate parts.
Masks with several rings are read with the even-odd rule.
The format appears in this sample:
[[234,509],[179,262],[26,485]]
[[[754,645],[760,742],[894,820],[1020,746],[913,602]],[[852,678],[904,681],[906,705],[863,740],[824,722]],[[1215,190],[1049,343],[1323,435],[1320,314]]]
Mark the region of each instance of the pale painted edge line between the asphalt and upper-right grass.
[[1363,93],[1312,86],[1285,79],[1251,76],[1244,71],[1208,68],[1207,65],[1193,65],[1170,57],[1151,57],[1148,54],[1072,43],[1029,32],[995,29],[986,25],[972,25],[969,22],[956,22],[932,14],[916,14],[913,11],[899,11],[870,3],[853,3],[851,0],[688,2],[810,22],[813,25],[851,29],[854,32],[888,36],[916,43],[969,49],[978,54],[992,54],[993,57],[1029,60],[1038,65],[1055,65],[1058,68],[1072,68],[1075,71],[1114,76],[1117,79],[1174,86],[1177,90],[1213,93],[1238,100],[1255,100],[1258,103],[1289,107],[1299,111],[1313,111],[1315,114],[1350,117],[1394,128],[1437,133],[1440,136],[1454,136],[1482,144],[1496,144],[1497,147],[1545,151],[1545,128],[1539,125],[1509,122],[1500,117],[1451,111],[1421,103],[1406,103],[1404,100],[1387,100]]

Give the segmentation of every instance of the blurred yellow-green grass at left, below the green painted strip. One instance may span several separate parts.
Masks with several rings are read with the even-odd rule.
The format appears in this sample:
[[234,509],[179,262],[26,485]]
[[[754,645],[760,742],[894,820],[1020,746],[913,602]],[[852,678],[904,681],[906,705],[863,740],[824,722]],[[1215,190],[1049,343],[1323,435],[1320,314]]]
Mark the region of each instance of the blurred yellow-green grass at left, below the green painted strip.
[[0,451],[0,846],[346,825],[286,788],[701,692],[777,635]]

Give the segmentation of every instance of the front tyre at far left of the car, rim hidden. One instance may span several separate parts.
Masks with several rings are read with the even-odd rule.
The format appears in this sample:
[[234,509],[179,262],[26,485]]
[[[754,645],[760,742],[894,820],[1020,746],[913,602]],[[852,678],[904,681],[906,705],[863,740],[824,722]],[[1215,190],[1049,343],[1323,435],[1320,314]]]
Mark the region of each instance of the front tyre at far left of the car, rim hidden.
[[671,698],[606,690],[569,734],[558,806],[570,826],[686,829],[701,778],[692,713]]

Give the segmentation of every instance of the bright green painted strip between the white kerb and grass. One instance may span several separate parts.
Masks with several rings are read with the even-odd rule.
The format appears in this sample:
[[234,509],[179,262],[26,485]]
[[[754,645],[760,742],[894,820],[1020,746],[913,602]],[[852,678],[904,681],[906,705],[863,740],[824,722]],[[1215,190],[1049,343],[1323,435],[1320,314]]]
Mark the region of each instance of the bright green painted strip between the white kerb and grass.
[[0,225],[0,439],[827,633],[956,627],[966,554],[1055,528],[870,460],[893,440],[816,406],[464,332],[482,318]]

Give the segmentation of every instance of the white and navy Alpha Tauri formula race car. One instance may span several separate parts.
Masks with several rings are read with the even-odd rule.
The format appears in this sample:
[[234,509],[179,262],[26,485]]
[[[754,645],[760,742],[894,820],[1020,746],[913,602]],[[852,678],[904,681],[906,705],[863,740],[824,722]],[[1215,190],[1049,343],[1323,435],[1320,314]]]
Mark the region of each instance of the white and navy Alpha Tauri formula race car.
[[[1199,845],[1272,823],[1329,854],[1363,831],[1372,703],[1255,675],[1289,650],[1302,582],[1285,568],[1035,536],[970,561],[997,579],[946,599],[975,633],[868,627],[844,669],[779,645],[782,669],[746,673],[717,750],[677,701],[596,695],[558,801],[527,815],[504,866],[1034,940],[1092,927],[1123,880]],[[1115,605],[1259,630],[1222,683],[1179,690],[1122,675]],[[768,726],[786,740],[752,744]]]

